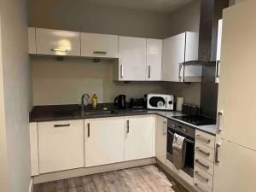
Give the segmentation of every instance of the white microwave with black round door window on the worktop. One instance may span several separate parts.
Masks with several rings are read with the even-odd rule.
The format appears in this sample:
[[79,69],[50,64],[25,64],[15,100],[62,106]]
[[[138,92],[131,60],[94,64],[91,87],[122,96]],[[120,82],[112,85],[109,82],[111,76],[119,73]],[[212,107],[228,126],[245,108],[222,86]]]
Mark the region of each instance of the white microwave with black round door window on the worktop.
[[173,110],[174,96],[163,95],[163,94],[148,94],[147,108],[161,109],[161,110]]

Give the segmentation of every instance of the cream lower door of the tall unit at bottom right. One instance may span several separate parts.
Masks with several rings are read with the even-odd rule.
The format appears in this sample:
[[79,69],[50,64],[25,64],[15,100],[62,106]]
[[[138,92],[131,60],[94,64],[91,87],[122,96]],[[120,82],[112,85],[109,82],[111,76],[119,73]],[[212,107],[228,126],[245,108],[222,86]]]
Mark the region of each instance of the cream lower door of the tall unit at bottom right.
[[256,151],[222,140],[218,160],[213,192],[255,192]]

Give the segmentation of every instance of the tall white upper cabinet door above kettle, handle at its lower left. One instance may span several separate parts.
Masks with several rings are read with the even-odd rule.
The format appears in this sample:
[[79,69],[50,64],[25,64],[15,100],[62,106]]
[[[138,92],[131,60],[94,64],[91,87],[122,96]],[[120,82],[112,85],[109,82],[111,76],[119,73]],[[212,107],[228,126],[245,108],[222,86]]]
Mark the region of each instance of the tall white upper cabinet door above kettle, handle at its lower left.
[[146,38],[119,37],[119,80],[146,79]]

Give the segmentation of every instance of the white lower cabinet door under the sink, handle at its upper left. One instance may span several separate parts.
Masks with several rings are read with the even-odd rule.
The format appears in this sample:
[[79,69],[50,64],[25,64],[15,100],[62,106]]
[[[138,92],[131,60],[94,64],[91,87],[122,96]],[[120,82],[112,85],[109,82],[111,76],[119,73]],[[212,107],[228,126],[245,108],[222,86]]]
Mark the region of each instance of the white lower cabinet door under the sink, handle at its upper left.
[[84,121],[85,167],[124,161],[124,117]]

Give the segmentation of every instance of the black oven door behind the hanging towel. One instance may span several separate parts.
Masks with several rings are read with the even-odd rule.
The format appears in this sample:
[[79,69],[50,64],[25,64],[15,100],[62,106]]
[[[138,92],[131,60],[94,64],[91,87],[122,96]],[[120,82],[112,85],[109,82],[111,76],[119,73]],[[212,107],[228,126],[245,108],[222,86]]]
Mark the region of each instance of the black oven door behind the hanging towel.
[[185,155],[185,166],[183,167],[183,172],[186,172],[189,174],[189,176],[194,177],[194,158],[195,158],[195,139],[192,137],[188,137],[183,135],[183,133],[180,133],[178,131],[173,130],[172,128],[168,127],[167,132],[167,160],[170,160],[173,162],[172,159],[172,143],[173,143],[173,136],[174,133],[177,133],[178,135],[185,137],[186,142],[186,155]]

